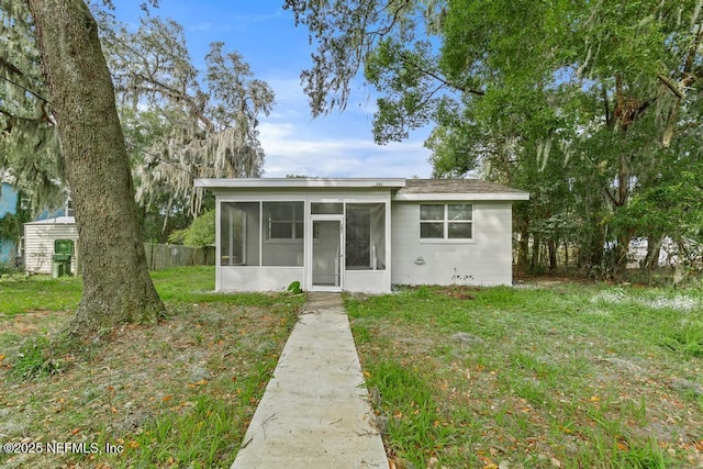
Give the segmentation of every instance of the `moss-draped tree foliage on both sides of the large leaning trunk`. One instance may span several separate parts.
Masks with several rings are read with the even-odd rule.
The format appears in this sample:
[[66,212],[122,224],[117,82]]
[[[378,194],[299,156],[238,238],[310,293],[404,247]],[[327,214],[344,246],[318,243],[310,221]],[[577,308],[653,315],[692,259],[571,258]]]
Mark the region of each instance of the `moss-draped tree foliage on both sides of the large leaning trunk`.
[[[60,205],[64,168],[31,16],[24,2],[3,0],[1,7],[9,47],[0,54],[0,167],[12,170],[36,210]],[[145,15],[132,31],[109,4],[91,7],[145,210],[166,219],[198,214],[203,193],[193,178],[260,175],[258,119],[270,112],[274,92],[244,57],[213,43],[205,69],[198,70],[177,22]]]

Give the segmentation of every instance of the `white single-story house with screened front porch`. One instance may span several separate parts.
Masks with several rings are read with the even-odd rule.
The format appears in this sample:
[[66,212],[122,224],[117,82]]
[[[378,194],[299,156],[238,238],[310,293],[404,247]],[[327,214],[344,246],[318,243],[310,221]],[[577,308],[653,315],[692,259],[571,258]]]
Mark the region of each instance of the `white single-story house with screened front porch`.
[[478,179],[197,179],[215,196],[217,291],[511,284],[512,203]]

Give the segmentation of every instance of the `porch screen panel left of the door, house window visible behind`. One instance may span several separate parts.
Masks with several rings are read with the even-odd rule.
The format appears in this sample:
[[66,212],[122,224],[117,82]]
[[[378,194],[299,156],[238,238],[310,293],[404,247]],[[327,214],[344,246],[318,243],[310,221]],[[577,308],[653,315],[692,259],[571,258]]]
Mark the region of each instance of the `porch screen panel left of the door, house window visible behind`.
[[302,267],[304,202],[264,202],[261,266]]

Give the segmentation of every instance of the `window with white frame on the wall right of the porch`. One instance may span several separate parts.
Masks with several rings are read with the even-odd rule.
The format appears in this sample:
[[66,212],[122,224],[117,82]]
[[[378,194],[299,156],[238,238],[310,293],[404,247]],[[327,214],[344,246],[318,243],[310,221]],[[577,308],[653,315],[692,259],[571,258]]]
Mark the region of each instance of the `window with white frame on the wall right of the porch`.
[[473,238],[473,204],[424,203],[420,205],[421,239]]

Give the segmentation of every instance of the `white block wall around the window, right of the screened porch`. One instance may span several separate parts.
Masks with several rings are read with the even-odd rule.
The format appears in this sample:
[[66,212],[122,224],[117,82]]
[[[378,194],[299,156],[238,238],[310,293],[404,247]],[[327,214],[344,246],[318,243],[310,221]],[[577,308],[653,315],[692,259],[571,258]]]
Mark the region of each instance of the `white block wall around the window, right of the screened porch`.
[[[432,203],[453,202],[433,201]],[[511,202],[473,202],[473,239],[454,243],[421,242],[420,203],[393,202],[391,204],[392,283],[511,284],[512,204]],[[470,277],[464,278],[465,276]]]

